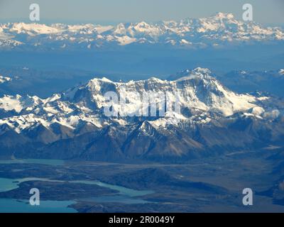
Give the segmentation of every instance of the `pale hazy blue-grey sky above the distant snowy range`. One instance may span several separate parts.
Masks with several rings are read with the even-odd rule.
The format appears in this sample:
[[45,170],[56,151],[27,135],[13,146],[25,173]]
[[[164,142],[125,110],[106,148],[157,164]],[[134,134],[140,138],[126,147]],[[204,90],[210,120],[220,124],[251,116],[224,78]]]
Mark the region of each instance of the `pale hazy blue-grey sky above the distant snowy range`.
[[202,18],[217,12],[242,17],[253,6],[253,20],[284,24],[284,0],[0,0],[0,22],[28,21],[30,4],[39,4],[42,23],[119,23]]

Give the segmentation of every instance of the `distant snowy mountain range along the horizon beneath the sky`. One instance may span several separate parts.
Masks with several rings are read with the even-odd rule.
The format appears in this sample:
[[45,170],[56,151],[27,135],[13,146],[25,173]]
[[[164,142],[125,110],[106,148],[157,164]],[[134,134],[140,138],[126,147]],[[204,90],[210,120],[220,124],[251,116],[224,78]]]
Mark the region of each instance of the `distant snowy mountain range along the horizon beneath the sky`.
[[7,49],[88,50],[130,44],[204,48],[281,40],[284,40],[284,32],[280,28],[264,28],[258,23],[238,21],[231,13],[182,21],[119,23],[116,26],[0,24],[0,47]]

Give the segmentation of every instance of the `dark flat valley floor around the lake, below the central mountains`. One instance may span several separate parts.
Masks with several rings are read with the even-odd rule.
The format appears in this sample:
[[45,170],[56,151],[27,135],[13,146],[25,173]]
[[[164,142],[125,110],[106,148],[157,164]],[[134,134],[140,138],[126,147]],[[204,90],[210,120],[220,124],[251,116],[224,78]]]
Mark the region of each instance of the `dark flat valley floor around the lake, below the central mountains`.
[[[283,212],[280,197],[284,192],[265,193],[283,180],[283,165],[273,159],[281,154],[283,148],[179,164],[2,162],[0,178],[31,180],[16,182],[18,188],[0,192],[0,198],[24,201],[30,196],[29,189],[37,187],[43,201],[73,201],[68,207],[79,212]],[[89,184],[97,181],[104,183]],[[246,187],[253,189],[254,204],[250,207],[241,204]]]

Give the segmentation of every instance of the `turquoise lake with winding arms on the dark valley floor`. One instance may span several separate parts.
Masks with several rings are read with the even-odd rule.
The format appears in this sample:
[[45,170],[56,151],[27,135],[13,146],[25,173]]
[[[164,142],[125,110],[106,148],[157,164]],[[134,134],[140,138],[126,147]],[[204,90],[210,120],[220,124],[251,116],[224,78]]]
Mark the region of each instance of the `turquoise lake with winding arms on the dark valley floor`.
[[[62,160],[0,160],[0,164],[15,164],[15,163],[27,163],[27,164],[40,164],[40,165],[64,165]],[[27,181],[45,181],[45,182],[67,182],[64,180],[38,178],[38,177],[26,177],[20,179],[0,178],[0,192],[8,192],[10,190],[18,188],[18,184]],[[76,180],[68,181],[72,184],[94,184],[100,187],[106,187],[118,191],[118,194],[111,196],[98,196],[92,198],[80,199],[80,201],[95,201],[99,203],[104,202],[116,202],[123,204],[145,204],[148,201],[136,198],[136,196],[143,196],[151,194],[153,191],[138,191],[134,189],[128,189],[114,184],[107,184],[99,182],[97,180]],[[0,198],[0,213],[5,212],[31,212],[31,213],[74,213],[75,209],[68,207],[71,204],[75,204],[74,201],[41,201],[40,206],[31,206],[28,201],[17,199],[1,199]]]

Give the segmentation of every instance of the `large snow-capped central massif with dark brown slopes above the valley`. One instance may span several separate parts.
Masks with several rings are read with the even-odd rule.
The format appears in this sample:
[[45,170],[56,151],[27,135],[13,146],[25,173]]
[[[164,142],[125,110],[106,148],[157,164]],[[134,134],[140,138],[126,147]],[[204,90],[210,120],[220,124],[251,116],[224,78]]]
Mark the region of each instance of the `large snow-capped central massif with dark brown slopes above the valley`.
[[[169,121],[168,112],[106,116],[107,92],[125,94],[130,111],[142,101],[133,92],[175,92],[178,123]],[[202,68],[174,81],[92,79],[48,99],[3,96],[0,150],[1,155],[91,160],[196,157],[283,143],[283,109],[281,99],[231,92]]]

